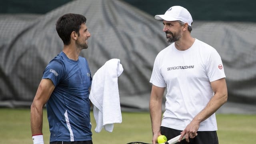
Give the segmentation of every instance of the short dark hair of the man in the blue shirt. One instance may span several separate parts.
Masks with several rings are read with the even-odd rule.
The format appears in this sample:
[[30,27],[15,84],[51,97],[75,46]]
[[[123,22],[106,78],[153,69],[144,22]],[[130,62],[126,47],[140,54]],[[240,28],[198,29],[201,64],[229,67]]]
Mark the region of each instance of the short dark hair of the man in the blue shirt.
[[64,14],[56,22],[56,30],[64,45],[70,44],[70,35],[74,31],[79,36],[79,29],[86,23],[86,18],[81,14]]

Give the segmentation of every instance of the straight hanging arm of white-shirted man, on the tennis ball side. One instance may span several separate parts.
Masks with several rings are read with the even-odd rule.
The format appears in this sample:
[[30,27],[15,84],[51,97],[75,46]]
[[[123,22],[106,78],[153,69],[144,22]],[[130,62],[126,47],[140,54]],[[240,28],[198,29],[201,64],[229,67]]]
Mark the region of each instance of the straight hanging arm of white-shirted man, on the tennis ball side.
[[150,96],[150,118],[152,124],[152,143],[155,144],[157,141],[157,137],[161,135],[160,133],[160,125],[162,119],[162,99],[164,95],[164,89],[157,86],[152,85],[151,96]]

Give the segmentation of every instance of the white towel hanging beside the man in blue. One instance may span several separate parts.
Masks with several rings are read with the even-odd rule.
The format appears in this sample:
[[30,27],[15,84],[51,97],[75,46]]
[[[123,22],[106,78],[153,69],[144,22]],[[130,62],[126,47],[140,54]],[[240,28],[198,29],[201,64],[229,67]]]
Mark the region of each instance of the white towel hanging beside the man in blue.
[[94,105],[95,132],[100,132],[103,127],[106,131],[112,132],[114,123],[122,122],[118,76],[123,70],[119,59],[110,59],[92,78],[89,99]]

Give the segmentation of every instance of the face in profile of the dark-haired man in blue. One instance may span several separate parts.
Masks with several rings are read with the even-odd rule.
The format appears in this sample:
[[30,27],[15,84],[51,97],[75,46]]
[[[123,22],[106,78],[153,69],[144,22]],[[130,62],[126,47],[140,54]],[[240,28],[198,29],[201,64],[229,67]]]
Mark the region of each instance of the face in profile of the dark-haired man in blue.
[[81,24],[79,29],[78,38],[76,40],[76,46],[80,49],[88,48],[88,38],[91,36],[85,24]]

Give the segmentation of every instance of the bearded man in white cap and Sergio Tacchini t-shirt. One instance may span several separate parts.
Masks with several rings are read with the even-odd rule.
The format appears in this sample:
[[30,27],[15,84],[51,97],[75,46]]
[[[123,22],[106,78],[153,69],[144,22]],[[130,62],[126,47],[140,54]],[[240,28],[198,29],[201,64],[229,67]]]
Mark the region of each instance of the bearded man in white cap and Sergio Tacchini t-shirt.
[[172,44],[156,56],[150,78],[152,142],[155,144],[159,135],[170,140],[181,134],[180,144],[218,144],[215,112],[228,98],[220,55],[212,46],[192,38],[193,20],[186,8],[172,6],[155,18],[163,20],[166,41]]

